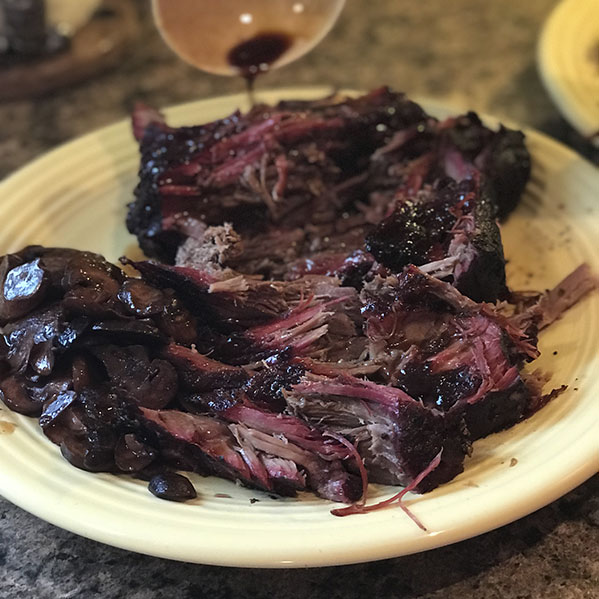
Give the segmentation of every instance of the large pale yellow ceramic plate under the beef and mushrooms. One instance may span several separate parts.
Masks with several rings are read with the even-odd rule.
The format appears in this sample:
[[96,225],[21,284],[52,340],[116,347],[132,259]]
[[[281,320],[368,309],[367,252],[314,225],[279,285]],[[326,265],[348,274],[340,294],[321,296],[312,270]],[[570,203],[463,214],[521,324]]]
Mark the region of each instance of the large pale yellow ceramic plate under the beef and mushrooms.
[[[274,102],[326,92],[287,89],[262,96]],[[244,96],[230,96],[166,113],[173,124],[192,124],[244,105]],[[424,105],[438,116],[448,113]],[[538,289],[583,261],[599,270],[599,173],[551,139],[534,131],[527,135],[533,177],[522,205],[505,225],[504,243],[512,286]],[[111,260],[132,251],[135,240],[126,233],[124,219],[137,166],[127,122],[36,160],[0,184],[0,250],[40,243],[93,250]],[[451,483],[410,498],[426,533],[400,509],[338,518],[330,514],[333,504],[310,494],[274,500],[215,478],[194,479],[199,493],[191,503],[161,501],[143,482],[77,470],[35,420],[6,409],[0,420],[16,428],[0,434],[0,493],[86,537],[191,562],[324,566],[423,551],[529,514],[597,471],[598,340],[599,294],[577,305],[541,339],[537,365],[554,373],[555,386],[568,384],[568,391],[530,420],[477,442],[465,472]],[[384,498],[394,492],[373,485],[371,495]]]

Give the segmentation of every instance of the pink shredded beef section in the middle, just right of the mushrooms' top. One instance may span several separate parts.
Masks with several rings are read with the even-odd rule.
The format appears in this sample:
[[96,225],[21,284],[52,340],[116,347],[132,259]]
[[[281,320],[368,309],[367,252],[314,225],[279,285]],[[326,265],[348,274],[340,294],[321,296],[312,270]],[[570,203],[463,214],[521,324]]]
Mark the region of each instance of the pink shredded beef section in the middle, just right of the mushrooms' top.
[[353,359],[364,351],[358,295],[336,278],[215,280],[188,267],[129,263],[146,281],[172,286],[194,313],[208,316],[205,339],[197,345],[223,362],[249,364],[287,348],[329,360]]

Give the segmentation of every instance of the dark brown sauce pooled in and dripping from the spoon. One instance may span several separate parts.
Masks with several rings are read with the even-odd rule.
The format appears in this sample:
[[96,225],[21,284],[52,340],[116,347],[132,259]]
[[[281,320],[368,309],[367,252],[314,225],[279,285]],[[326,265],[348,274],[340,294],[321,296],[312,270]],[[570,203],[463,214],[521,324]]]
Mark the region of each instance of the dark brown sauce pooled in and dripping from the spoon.
[[260,73],[289,50],[293,38],[287,33],[265,32],[237,44],[227,54],[227,62],[246,80],[250,97],[254,81]]

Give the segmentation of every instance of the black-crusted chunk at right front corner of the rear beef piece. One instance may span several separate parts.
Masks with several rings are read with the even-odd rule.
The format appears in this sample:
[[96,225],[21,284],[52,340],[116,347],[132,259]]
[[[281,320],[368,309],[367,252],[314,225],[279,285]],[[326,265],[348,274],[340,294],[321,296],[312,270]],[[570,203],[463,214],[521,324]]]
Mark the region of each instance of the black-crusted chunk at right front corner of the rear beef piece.
[[495,208],[475,179],[445,179],[399,200],[367,236],[366,248],[394,272],[415,264],[475,301],[507,296]]

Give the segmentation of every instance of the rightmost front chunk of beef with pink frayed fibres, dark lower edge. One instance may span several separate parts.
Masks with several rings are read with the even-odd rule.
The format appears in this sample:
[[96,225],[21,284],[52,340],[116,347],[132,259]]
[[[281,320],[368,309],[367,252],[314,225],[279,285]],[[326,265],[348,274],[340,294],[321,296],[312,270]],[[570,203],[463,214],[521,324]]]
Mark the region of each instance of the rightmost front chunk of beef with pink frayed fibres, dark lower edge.
[[410,266],[362,294],[371,358],[389,382],[447,414],[463,414],[473,438],[507,428],[527,411],[519,370],[521,332],[459,291]]

